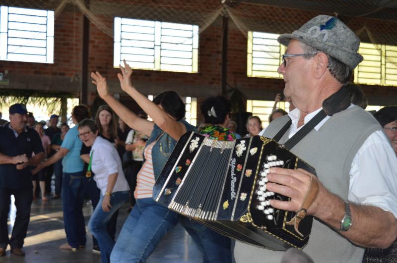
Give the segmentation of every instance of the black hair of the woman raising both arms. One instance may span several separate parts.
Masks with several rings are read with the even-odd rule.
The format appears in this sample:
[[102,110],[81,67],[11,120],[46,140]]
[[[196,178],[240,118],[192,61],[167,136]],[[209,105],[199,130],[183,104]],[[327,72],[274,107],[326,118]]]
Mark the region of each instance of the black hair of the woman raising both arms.
[[175,91],[165,91],[153,99],[153,103],[161,105],[165,112],[179,121],[185,117],[186,109],[181,97]]

